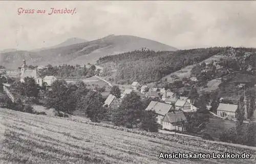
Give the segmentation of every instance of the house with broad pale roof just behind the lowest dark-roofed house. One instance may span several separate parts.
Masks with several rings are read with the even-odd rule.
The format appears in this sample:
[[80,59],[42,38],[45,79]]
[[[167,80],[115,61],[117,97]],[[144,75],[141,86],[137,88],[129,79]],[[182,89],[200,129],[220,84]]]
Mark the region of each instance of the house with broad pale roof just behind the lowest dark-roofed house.
[[157,101],[151,101],[145,110],[154,110],[157,113],[157,122],[162,125],[164,115],[173,110],[173,106]]

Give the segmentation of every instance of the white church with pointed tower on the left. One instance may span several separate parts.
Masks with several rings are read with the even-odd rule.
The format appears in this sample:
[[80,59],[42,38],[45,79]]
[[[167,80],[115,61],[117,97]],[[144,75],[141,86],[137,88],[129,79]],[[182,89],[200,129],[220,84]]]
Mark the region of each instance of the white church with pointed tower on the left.
[[30,69],[26,65],[26,60],[23,60],[23,64],[21,67],[19,67],[21,70],[22,75],[20,76],[20,82],[24,83],[26,77],[34,78],[35,82],[39,84],[39,86],[42,86],[42,78],[39,77],[39,74],[37,73],[37,69]]

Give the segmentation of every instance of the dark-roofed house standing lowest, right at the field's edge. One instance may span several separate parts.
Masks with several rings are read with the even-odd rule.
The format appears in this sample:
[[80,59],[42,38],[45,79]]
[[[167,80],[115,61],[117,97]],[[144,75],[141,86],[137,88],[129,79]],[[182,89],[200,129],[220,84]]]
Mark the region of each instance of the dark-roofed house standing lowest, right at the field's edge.
[[182,111],[169,112],[164,115],[162,129],[184,131],[187,120]]

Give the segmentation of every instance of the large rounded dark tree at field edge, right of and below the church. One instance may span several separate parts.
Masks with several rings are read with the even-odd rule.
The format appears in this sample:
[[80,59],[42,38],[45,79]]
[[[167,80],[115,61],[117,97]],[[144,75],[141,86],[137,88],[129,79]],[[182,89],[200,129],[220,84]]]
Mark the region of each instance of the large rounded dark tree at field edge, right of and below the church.
[[52,90],[46,92],[45,105],[60,111],[72,114],[76,107],[74,90],[65,80],[56,80],[52,83]]

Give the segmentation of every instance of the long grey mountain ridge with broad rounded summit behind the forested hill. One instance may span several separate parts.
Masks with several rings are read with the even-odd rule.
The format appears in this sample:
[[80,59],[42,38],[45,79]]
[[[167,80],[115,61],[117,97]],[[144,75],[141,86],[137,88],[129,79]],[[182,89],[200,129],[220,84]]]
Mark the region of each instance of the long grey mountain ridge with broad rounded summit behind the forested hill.
[[109,35],[100,39],[39,51],[16,51],[1,53],[0,65],[17,68],[25,58],[32,65],[83,65],[94,63],[100,57],[148,48],[154,51],[177,49],[154,41],[131,35]]

